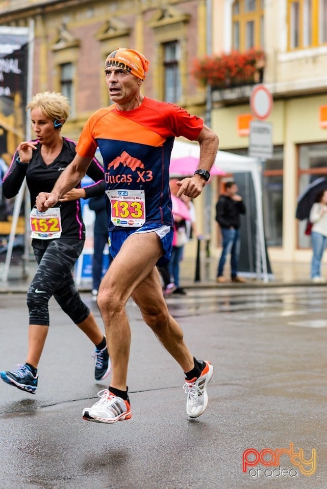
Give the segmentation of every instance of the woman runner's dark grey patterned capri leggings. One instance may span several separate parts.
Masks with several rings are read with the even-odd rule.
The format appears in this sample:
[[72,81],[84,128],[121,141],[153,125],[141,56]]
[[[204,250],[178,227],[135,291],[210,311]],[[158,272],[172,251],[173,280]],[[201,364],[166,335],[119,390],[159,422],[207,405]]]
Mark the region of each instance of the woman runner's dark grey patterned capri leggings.
[[84,241],[73,238],[33,239],[38,268],[27,292],[30,324],[49,324],[48,302],[53,295],[75,324],[90,314],[72,278],[72,269],[82,253]]

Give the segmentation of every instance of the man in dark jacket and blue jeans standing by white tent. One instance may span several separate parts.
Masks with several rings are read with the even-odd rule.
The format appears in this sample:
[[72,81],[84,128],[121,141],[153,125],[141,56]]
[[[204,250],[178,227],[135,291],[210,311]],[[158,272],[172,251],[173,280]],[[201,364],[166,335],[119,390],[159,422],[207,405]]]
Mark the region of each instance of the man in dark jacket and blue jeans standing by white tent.
[[229,254],[231,254],[231,281],[246,282],[237,275],[240,253],[240,214],[245,214],[245,205],[237,192],[238,188],[234,181],[226,182],[225,194],[219,197],[216,204],[216,221],[222,234],[222,252],[218,262],[217,282],[227,282],[223,276],[223,267]]

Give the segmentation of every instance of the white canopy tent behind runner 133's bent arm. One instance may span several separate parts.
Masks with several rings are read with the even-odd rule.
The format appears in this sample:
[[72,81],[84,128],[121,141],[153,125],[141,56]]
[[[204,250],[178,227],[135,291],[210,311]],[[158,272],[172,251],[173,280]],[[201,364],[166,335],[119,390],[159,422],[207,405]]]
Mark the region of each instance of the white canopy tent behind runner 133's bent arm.
[[[171,157],[181,158],[185,156],[194,156],[199,158],[199,145],[196,143],[175,140]],[[240,156],[227,151],[218,151],[215,165],[226,173],[246,173],[249,172],[255,191],[256,202],[256,241],[257,241],[257,264],[256,272],[258,277],[261,276],[264,282],[268,282],[267,257],[263,224],[262,209],[262,177],[261,162],[256,158]]]

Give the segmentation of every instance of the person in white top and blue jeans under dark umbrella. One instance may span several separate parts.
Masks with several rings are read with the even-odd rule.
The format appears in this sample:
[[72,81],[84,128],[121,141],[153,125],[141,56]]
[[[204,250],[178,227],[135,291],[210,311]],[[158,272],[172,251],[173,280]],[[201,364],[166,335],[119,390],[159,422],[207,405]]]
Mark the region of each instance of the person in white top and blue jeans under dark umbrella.
[[321,276],[321,260],[327,245],[327,191],[323,190],[316,196],[316,201],[310,210],[312,261],[311,280],[316,283],[325,282]]

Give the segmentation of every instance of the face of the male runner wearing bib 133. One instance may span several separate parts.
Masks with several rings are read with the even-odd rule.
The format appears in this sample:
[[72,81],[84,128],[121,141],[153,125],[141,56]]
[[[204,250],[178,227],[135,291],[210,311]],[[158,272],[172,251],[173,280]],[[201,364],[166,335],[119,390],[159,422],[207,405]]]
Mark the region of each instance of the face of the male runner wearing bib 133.
[[139,93],[139,79],[128,71],[108,67],[105,69],[109,97],[118,105],[129,104]]

